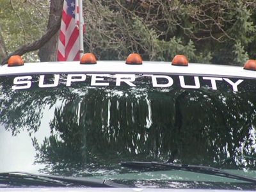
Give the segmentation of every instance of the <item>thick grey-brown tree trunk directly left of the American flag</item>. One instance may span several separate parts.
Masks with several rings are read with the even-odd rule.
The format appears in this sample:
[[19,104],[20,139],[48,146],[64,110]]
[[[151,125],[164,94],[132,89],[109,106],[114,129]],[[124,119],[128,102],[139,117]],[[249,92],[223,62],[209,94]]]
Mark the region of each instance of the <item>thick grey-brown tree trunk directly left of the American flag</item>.
[[[62,10],[63,0],[51,0],[47,30],[56,24],[56,22],[60,22]],[[56,33],[52,36],[49,42],[39,49],[38,56],[41,62],[57,61],[58,37],[59,33]]]

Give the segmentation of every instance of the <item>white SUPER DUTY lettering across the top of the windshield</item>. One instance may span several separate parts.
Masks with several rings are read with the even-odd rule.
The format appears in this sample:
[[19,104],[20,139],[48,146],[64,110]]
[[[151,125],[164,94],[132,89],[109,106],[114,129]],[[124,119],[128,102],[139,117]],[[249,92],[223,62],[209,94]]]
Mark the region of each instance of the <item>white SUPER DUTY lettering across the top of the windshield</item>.
[[[87,79],[86,77],[89,76]],[[229,86],[232,87],[233,92],[238,91],[238,86],[241,84],[244,80],[238,79],[236,82],[231,81],[228,78],[221,78],[221,77],[202,77],[202,79],[199,79],[198,76],[190,76],[193,77],[193,81],[186,80],[186,77],[179,76],[179,82],[177,80],[173,81],[173,78],[170,76],[161,76],[161,75],[145,75],[145,76],[139,76],[136,77],[135,74],[117,74],[110,76],[109,74],[92,74],[92,75],[86,75],[86,74],[68,74],[67,78],[61,78],[59,74],[55,74],[54,78],[51,81],[45,81],[47,80],[47,76],[40,75],[39,81],[38,81],[38,87],[40,88],[53,88],[59,85],[60,81],[66,81],[66,86],[72,86],[72,83],[90,83],[89,86],[109,86],[110,82],[115,83],[116,86],[121,86],[121,84],[126,84],[128,86],[134,87],[136,86],[136,78],[144,78],[147,77],[145,81],[147,83],[152,83],[152,87],[155,88],[167,88],[173,86],[173,84],[179,83],[181,88],[187,88],[187,89],[198,89],[201,87],[201,84],[205,84],[206,81],[211,83],[212,90],[218,89],[218,81],[225,81]],[[150,78],[151,77],[151,78]],[[36,78],[37,79],[37,78]],[[109,79],[113,79],[109,81]],[[176,78],[175,78],[176,79]],[[88,82],[90,81],[90,82]],[[140,80],[141,81],[141,80]],[[143,80],[142,80],[143,81]],[[31,88],[32,83],[35,83],[36,81],[33,81],[32,76],[22,76],[22,77],[15,77],[13,79],[13,90],[24,90]],[[48,82],[48,83],[46,83]],[[52,83],[49,83],[52,82]],[[63,83],[62,83],[63,84]]]

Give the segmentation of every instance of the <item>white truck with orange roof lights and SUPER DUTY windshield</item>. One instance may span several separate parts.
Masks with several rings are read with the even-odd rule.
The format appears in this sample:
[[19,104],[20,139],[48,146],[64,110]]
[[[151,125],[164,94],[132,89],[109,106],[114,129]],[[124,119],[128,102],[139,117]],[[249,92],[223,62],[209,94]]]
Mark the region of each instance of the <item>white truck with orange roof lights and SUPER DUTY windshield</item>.
[[0,89],[1,191],[256,189],[255,60],[13,56]]

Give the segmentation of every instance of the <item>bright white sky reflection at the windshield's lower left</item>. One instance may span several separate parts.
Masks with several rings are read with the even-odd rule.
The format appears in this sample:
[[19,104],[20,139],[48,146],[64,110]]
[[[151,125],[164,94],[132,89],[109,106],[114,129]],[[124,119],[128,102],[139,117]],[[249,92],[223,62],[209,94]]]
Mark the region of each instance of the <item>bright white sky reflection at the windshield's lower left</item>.
[[53,109],[49,109],[49,106],[45,107],[40,128],[38,131],[31,133],[31,136],[26,130],[20,131],[17,136],[13,136],[12,131],[8,131],[3,124],[0,124],[0,172],[40,173],[38,170],[44,168],[44,165],[34,164],[36,150],[31,138],[35,136],[38,143],[42,144],[44,138],[50,136],[49,120],[53,111]]

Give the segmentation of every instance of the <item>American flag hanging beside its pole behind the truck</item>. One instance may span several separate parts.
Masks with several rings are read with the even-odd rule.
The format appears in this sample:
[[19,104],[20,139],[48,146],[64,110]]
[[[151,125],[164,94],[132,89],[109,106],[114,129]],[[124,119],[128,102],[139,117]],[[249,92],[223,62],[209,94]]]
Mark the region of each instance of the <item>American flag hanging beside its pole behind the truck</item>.
[[79,4],[80,0],[65,0],[63,4],[58,61],[79,61]]

